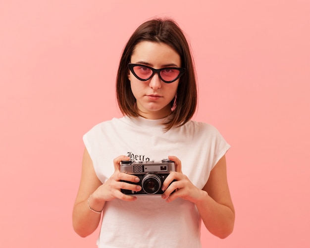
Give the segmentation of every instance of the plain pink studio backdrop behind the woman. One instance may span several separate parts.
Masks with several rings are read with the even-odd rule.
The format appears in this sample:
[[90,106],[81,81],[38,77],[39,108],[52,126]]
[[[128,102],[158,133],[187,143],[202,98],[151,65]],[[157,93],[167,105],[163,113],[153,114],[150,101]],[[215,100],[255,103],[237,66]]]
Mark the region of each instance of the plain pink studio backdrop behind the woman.
[[96,247],[71,225],[82,135],[120,116],[121,50],[156,15],[193,48],[195,119],[232,146],[235,230],[203,247],[310,246],[309,0],[1,0],[1,247]]

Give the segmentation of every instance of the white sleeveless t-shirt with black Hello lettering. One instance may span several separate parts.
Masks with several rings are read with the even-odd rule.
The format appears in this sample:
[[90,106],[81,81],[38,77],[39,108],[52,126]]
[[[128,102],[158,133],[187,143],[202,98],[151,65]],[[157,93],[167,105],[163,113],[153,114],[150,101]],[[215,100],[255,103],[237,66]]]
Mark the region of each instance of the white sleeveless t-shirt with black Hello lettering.
[[[100,123],[83,136],[95,172],[104,183],[114,173],[113,159],[127,155],[136,161],[177,156],[182,172],[202,189],[211,169],[229,149],[211,125],[189,121],[163,132],[162,120],[142,117]],[[160,195],[137,196],[136,201],[105,203],[99,248],[199,248],[201,217],[194,203],[165,202]]]

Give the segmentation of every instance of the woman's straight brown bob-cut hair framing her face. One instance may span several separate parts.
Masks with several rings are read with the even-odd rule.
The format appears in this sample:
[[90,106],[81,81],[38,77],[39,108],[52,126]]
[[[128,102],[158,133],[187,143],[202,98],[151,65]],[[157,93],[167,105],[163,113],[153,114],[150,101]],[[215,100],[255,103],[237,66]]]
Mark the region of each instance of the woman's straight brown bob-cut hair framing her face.
[[171,114],[162,124],[165,131],[173,126],[182,126],[193,117],[196,111],[196,72],[188,42],[178,24],[171,19],[146,21],[136,29],[128,40],[119,62],[116,78],[116,97],[119,108],[124,115],[139,116],[136,109],[136,99],[132,94],[128,79],[128,63],[131,62],[131,55],[135,47],[142,41],[167,44],[181,57],[182,67],[186,71],[179,79],[175,99],[170,102]]

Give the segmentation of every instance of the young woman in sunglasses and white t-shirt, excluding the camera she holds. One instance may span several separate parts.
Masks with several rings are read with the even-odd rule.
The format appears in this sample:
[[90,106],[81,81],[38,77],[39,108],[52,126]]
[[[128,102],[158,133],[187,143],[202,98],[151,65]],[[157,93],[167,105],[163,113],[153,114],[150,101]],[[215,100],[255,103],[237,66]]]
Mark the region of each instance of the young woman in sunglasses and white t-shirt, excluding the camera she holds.
[[[88,236],[102,216],[99,248],[198,248],[201,220],[210,233],[227,237],[235,219],[226,178],[229,145],[213,126],[191,120],[195,68],[173,20],[153,19],[133,33],[120,59],[116,93],[124,117],[83,137],[74,230]],[[174,161],[175,171],[162,195],[122,193],[141,191],[137,176],[120,172],[122,160],[163,158]]]

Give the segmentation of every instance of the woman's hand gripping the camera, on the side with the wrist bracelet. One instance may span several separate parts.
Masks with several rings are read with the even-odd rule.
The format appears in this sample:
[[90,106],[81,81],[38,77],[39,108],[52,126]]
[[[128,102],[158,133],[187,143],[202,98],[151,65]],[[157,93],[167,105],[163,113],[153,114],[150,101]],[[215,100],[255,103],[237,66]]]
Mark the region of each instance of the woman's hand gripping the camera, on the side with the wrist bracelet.
[[111,175],[111,177],[106,180],[103,185],[101,185],[92,195],[92,198],[94,198],[94,201],[109,201],[115,198],[126,200],[126,201],[133,201],[137,198],[130,195],[123,194],[120,190],[131,190],[131,191],[140,191],[141,186],[138,186],[136,184],[130,184],[127,182],[122,181],[129,181],[133,183],[137,183],[140,181],[139,177],[136,177],[134,175],[122,173],[119,171],[120,162],[122,160],[128,160],[128,156],[118,156],[114,158],[114,173]]

